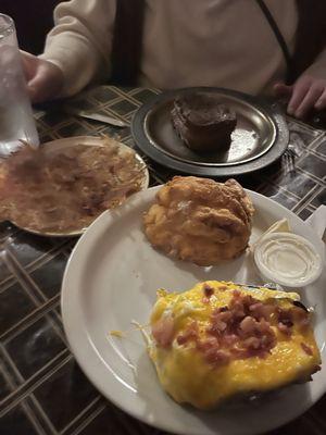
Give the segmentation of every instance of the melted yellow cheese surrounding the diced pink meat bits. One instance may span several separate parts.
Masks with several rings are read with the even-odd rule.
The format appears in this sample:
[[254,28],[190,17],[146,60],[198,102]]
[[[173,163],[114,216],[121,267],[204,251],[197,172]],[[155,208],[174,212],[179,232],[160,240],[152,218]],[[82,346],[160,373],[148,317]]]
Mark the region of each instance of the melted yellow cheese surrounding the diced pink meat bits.
[[[213,310],[227,306],[235,289],[263,302],[276,299],[284,309],[291,308],[293,300],[300,299],[296,293],[246,289],[233,283],[214,281],[206,284],[214,288],[209,303],[203,302],[203,283],[181,294],[159,290],[151,326],[164,315],[172,315],[176,337],[196,320],[199,335],[204,337]],[[312,328],[302,332],[294,324],[288,337],[276,327],[276,321],[274,324],[273,318],[271,320],[277,343],[266,358],[237,359],[220,366],[208,363],[193,343],[178,345],[174,338],[171,347],[163,348],[152,340],[149,353],[163,388],[179,403],[188,402],[200,409],[209,409],[231,396],[271,390],[309,377],[321,363]],[[312,356],[303,350],[302,343],[312,349]]]

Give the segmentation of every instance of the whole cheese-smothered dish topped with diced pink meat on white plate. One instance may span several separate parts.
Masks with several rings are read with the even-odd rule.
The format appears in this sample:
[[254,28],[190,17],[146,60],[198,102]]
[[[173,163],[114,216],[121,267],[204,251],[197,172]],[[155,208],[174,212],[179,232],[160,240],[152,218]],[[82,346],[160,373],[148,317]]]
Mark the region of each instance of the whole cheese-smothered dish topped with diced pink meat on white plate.
[[199,409],[306,382],[319,370],[311,314],[296,293],[217,281],[160,289],[150,325],[162,387]]

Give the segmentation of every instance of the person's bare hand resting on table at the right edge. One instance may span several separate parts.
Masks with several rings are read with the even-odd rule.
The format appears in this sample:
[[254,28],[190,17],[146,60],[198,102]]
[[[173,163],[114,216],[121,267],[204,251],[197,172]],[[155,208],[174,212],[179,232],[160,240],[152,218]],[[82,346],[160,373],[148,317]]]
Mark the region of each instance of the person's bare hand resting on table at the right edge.
[[289,98],[288,114],[304,117],[311,110],[326,108],[326,79],[308,74],[301,75],[292,86],[277,83],[274,86],[277,96]]

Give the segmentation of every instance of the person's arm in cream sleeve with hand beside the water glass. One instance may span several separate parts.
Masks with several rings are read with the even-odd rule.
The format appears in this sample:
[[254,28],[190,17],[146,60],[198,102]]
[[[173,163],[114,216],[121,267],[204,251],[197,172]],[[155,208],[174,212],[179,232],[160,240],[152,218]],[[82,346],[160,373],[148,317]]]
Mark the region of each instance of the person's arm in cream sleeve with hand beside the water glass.
[[72,96],[110,74],[115,7],[116,0],[71,0],[57,7],[43,54],[23,53],[33,101]]

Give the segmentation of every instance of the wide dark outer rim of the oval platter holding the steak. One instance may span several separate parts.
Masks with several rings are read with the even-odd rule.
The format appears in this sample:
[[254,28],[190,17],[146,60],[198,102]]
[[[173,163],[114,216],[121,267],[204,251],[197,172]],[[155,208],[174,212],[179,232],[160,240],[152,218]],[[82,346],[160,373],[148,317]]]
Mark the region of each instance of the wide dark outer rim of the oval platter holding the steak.
[[[273,145],[265,153],[254,160],[225,166],[212,166],[208,163],[201,165],[199,163],[183,162],[179,159],[173,158],[164,151],[160,150],[158,147],[153,147],[146,133],[145,123],[148,112],[153,107],[155,107],[155,104],[168,101],[176,95],[189,91],[210,91],[214,94],[222,94],[241,99],[246,103],[252,104],[258,110],[262,111],[265,115],[272,119],[273,126],[276,130]],[[244,175],[262,170],[278,160],[288,147],[289,142],[288,125],[277,104],[267,104],[266,101],[261,98],[253,97],[234,89],[209,86],[171,89],[150,97],[133,115],[130,132],[138,148],[155,162],[161,163],[164,166],[167,166],[174,171],[179,171],[181,173],[214,177]]]

